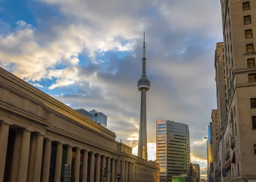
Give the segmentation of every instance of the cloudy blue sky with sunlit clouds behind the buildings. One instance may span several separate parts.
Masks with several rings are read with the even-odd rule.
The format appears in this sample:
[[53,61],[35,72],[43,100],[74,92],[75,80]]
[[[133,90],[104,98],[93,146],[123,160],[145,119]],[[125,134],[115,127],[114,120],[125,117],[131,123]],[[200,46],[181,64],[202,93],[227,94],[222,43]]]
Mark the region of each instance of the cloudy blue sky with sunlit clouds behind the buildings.
[[205,178],[223,40],[218,0],[0,0],[0,66],[73,109],[103,112],[137,154],[143,31],[148,159],[156,119],[185,123],[191,162]]

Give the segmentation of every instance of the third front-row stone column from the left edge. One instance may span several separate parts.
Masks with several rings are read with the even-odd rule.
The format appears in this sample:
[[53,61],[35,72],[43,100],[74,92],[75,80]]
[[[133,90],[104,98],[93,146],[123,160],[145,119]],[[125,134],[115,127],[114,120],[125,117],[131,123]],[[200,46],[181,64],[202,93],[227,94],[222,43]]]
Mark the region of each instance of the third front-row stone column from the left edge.
[[38,134],[36,137],[33,182],[40,182],[42,155],[43,155],[43,143],[44,143],[44,135]]

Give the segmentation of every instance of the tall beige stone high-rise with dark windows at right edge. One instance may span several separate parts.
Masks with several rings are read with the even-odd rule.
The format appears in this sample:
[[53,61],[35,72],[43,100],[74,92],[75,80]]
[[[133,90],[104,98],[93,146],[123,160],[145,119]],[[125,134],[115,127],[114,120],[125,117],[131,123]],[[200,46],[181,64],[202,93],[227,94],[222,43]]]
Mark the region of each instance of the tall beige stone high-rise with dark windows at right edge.
[[220,178],[251,182],[256,180],[256,0],[221,0],[221,15],[227,116],[219,137],[225,169]]

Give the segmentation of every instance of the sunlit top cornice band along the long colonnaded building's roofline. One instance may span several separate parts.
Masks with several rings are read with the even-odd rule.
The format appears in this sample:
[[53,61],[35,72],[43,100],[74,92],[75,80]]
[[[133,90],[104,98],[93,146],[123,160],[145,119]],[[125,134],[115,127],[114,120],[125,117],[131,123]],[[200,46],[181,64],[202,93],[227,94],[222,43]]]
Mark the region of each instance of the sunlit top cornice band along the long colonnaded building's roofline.
[[[98,128],[99,130],[102,130],[102,131],[112,135],[113,137],[116,137],[116,134],[114,132],[99,125],[98,123],[94,122],[93,120],[88,119],[87,117],[80,114],[79,112],[74,111],[72,108],[61,103],[60,101],[49,96],[48,94],[45,94],[43,91],[39,90],[38,88],[35,88],[34,86],[32,86],[29,83],[25,82],[24,80],[16,77],[15,75],[9,73],[8,71],[6,71],[5,69],[3,69],[1,67],[0,67],[0,75],[2,78],[4,78],[3,82],[2,82],[3,86],[9,88],[10,91],[14,91],[15,94],[20,95],[23,98],[26,98],[27,100],[35,102],[38,105],[41,105],[44,107],[45,107],[45,105],[43,104],[43,102],[48,102],[47,104],[53,105],[57,108],[61,108],[64,111],[66,111],[68,114],[72,114],[74,117],[82,119],[83,121],[87,122],[90,125],[93,125],[94,127]],[[10,84],[8,81],[5,81],[5,80],[9,80],[9,82],[11,82],[12,84]],[[19,88],[19,90],[17,88]],[[38,97],[41,100],[41,102],[38,101]],[[49,108],[49,112],[52,112],[52,111],[53,111],[53,109]],[[76,121],[76,122],[78,122],[78,121]]]

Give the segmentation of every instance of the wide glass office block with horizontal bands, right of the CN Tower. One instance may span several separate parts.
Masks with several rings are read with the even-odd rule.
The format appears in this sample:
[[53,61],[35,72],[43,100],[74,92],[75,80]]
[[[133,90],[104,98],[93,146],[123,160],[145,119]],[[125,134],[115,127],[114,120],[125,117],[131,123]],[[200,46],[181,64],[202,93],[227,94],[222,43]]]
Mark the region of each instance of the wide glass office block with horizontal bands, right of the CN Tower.
[[161,119],[156,126],[160,181],[170,182],[179,175],[190,178],[189,126]]

